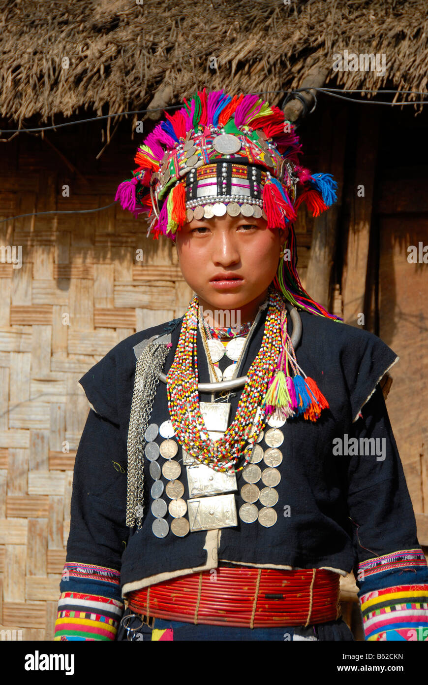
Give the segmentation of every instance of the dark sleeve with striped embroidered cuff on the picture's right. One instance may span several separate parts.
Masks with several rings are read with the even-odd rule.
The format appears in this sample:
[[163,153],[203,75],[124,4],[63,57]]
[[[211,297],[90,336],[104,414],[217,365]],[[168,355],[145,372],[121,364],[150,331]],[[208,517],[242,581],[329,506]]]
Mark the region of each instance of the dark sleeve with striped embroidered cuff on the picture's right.
[[379,386],[353,426],[347,499],[365,639],[428,640],[428,566]]

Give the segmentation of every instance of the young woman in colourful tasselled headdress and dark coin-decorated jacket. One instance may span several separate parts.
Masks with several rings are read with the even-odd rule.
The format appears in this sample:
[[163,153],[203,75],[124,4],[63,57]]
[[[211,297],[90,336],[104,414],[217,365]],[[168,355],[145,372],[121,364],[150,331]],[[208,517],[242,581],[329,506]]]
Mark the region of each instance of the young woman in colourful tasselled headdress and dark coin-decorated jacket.
[[[172,238],[196,293],[81,386],[55,640],[428,636],[428,573],[379,380],[398,357],[302,288],[293,220],[336,184],[257,96],[198,92],[116,199]],[[232,324],[232,325],[231,325]],[[425,604],[424,604],[425,603]]]

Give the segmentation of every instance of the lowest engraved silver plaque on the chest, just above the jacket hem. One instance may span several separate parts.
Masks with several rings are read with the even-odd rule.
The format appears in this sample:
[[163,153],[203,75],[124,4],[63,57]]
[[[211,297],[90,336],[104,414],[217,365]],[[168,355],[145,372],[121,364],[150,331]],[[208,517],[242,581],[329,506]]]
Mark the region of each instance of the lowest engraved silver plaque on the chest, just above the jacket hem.
[[215,530],[238,524],[235,495],[187,500],[191,532]]

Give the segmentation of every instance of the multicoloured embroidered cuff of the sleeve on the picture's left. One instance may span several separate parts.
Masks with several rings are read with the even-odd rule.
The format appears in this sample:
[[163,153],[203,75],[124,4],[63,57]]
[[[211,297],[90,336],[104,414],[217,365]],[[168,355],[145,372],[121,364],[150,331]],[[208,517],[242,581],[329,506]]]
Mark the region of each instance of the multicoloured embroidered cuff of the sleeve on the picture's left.
[[124,602],[120,571],[66,562],[54,640],[115,640]]

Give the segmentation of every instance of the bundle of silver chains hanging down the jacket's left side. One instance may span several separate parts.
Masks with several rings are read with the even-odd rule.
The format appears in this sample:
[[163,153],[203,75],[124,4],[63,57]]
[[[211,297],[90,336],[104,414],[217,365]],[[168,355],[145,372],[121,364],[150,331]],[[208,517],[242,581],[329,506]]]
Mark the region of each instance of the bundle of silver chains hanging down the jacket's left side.
[[126,525],[142,527],[144,508],[144,447],[159,374],[168,356],[163,343],[148,343],[137,360],[128,430],[128,490],[126,493]]

